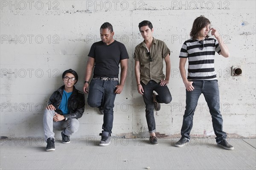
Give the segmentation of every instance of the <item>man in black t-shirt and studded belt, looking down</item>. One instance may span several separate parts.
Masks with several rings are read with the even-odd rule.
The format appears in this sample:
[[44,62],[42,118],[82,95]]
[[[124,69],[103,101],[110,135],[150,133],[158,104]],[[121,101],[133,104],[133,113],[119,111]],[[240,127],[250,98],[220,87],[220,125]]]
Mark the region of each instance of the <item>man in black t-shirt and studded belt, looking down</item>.
[[[121,94],[123,90],[128,69],[129,56],[125,45],[114,40],[113,35],[112,25],[103,23],[100,27],[102,41],[95,42],[91,46],[84,76],[83,89],[84,93],[88,93],[88,105],[99,108],[104,114],[100,146],[111,144],[114,101],[116,94]],[[119,63],[121,66],[120,83]],[[92,72],[93,79],[90,82],[89,93],[89,79]]]

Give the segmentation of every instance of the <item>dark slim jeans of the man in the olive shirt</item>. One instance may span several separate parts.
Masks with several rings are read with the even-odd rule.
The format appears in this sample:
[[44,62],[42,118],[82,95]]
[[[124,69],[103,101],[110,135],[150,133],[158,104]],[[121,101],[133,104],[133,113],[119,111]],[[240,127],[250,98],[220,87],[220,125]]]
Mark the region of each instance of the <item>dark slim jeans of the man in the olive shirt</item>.
[[160,83],[155,82],[154,80],[150,80],[147,85],[143,82],[140,82],[143,87],[143,100],[145,102],[145,112],[146,112],[146,120],[148,124],[148,132],[153,133],[156,130],[156,123],[154,119],[154,99],[153,99],[153,91],[157,92],[157,102],[168,104],[172,101],[172,95],[169,91],[169,88],[164,85],[161,86]]

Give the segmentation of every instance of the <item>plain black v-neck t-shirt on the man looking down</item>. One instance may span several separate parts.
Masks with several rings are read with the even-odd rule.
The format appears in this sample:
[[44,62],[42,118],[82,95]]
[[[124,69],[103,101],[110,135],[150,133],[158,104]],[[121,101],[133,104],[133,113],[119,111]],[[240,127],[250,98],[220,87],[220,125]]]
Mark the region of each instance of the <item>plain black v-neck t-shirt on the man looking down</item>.
[[120,60],[129,58],[125,45],[116,40],[109,45],[102,41],[93,43],[88,56],[95,59],[94,78],[118,78]]

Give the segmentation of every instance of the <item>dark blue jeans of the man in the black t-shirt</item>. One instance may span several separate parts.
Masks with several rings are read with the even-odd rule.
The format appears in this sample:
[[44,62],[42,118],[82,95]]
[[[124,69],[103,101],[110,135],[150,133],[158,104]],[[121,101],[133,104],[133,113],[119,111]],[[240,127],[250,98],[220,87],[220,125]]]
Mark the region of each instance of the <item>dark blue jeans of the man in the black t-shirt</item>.
[[113,127],[113,108],[116,94],[116,85],[118,81],[104,81],[101,79],[92,79],[90,82],[88,105],[91,107],[103,108],[103,125],[102,129],[112,133]]

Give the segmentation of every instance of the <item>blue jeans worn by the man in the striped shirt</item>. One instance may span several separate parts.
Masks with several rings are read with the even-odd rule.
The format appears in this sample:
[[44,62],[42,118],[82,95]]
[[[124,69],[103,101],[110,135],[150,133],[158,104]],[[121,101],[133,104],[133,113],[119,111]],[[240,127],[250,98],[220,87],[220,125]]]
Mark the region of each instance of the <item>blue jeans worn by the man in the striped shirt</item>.
[[212,116],[212,127],[217,136],[215,139],[218,143],[222,139],[227,138],[226,133],[222,130],[223,119],[220,112],[218,81],[194,80],[192,85],[195,88],[193,91],[186,90],[186,110],[183,116],[181,136],[190,139],[189,134],[193,126],[195,108],[198,104],[199,96],[204,94],[204,98]]

